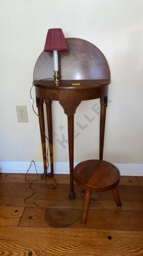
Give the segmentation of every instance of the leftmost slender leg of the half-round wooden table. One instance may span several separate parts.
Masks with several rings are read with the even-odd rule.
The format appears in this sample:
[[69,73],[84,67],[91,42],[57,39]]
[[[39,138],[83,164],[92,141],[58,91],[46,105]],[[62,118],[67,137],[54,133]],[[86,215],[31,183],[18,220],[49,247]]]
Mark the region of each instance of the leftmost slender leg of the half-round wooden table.
[[36,97],[36,104],[37,104],[38,115],[39,115],[41,143],[42,143],[44,174],[45,174],[47,172],[47,156],[46,156],[46,138],[45,138],[45,122],[44,122],[43,103],[44,103],[43,99]]

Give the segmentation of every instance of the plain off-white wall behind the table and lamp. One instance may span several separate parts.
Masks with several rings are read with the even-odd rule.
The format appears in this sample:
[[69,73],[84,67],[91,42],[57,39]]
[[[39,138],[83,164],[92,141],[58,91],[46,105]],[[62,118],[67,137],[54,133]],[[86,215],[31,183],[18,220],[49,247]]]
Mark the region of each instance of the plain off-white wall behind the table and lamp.
[[[49,28],[66,37],[91,41],[105,55],[111,71],[104,159],[143,163],[143,1],[141,0],[1,0],[1,160],[41,161],[37,116],[30,103],[35,62]],[[34,91],[33,91],[34,94]],[[82,102],[75,115],[75,161],[98,157],[98,100]],[[18,123],[15,105],[26,105],[28,123]],[[95,119],[90,123],[84,115]],[[68,161],[67,117],[53,102],[55,161]],[[87,124],[84,130],[77,125]],[[61,131],[60,125],[65,129]]]

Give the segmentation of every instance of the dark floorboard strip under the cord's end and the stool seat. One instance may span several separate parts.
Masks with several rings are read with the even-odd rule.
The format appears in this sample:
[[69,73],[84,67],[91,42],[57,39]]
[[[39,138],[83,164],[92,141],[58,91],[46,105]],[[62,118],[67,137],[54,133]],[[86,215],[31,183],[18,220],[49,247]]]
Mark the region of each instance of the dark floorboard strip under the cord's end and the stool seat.
[[[69,201],[69,184],[58,184],[53,189],[52,184],[34,184],[35,195],[24,203],[24,199],[31,195],[28,183],[2,183],[0,187],[0,205],[2,206],[34,206],[36,202],[44,207],[82,207],[83,196],[80,188],[75,185],[76,198]],[[18,193],[17,193],[18,191]],[[143,186],[118,186],[123,209],[142,209]],[[30,203],[31,202],[31,203]],[[111,191],[92,193],[90,208],[116,209],[116,203]]]

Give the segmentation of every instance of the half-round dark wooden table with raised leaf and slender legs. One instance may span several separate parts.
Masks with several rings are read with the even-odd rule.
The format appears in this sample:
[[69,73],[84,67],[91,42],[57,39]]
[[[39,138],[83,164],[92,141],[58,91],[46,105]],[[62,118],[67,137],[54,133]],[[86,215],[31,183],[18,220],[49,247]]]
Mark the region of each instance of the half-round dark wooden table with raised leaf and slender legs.
[[[58,86],[52,80],[40,80],[53,78],[53,53],[42,52],[34,69],[34,82],[36,96],[45,99],[46,102],[58,100],[65,114],[68,116],[69,135],[69,161],[70,161],[70,198],[75,198],[73,187],[73,127],[72,118],[77,106],[82,100],[101,98],[100,118],[100,159],[103,157],[105,109],[110,82],[110,70],[106,58],[93,44],[79,38],[67,38],[69,51],[59,52],[59,68],[61,82]],[[73,83],[80,83],[74,86]],[[50,122],[48,120],[48,122]],[[51,130],[51,128],[49,129]],[[51,134],[51,133],[50,133]],[[71,136],[71,137],[70,137]],[[42,139],[43,140],[43,139]],[[44,148],[43,148],[44,152]],[[43,153],[44,154],[44,153]],[[44,157],[43,157],[44,159]],[[45,169],[45,166],[44,166]],[[53,176],[52,173],[49,176]]]

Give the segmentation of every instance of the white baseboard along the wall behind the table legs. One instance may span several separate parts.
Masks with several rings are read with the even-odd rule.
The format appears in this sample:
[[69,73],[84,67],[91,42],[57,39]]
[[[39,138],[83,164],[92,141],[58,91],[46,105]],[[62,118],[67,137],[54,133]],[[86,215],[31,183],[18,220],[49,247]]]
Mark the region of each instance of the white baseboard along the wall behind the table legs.
[[[14,161],[0,161],[0,173],[15,173],[25,174],[31,162],[14,162]],[[43,173],[43,163],[35,162],[37,172]],[[74,166],[78,162],[74,162]],[[142,163],[114,163],[120,170],[120,174],[123,176],[143,176],[143,164]],[[50,166],[49,166],[50,172]],[[28,173],[35,174],[35,167],[32,164]],[[55,174],[69,174],[69,162],[54,162]]]

